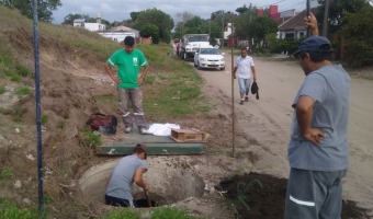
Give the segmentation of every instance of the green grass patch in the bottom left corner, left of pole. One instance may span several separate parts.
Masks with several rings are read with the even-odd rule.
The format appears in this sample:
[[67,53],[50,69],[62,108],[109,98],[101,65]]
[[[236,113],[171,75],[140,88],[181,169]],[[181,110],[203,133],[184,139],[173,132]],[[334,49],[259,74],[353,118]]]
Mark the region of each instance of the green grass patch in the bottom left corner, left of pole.
[[21,209],[15,203],[0,198],[1,219],[36,219],[38,214],[33,209]]

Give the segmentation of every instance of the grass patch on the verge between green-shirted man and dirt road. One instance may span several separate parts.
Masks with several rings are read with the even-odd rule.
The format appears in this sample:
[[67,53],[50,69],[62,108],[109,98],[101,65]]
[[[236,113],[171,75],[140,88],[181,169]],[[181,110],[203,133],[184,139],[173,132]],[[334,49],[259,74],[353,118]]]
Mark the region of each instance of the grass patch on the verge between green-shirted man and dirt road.
[[145,87],[144,111],[149,116],[184,116],[207,113],[212,106],[201,92],[203,79],[188,64],[169,64],[177,72],[152,74],[151,87]]

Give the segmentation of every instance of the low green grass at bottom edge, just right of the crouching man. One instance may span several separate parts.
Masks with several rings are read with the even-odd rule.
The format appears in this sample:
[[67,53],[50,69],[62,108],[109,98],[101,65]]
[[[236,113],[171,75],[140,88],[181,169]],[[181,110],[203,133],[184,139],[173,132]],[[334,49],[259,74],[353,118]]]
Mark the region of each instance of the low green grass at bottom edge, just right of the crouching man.
[[202,219],[197,216],[192,216],[185,210],[179,210],[173,207],[157,208],[151,214],[151,219]]

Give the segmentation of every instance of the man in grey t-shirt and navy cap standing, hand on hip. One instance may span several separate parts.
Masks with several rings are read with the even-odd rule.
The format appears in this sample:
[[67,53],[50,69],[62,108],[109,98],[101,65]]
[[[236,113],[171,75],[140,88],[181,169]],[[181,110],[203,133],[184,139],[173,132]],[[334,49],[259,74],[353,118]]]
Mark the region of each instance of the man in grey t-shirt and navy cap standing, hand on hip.
[[285,219],[338,219],[342,208],[350,77],[331,62],[330,42],[313,34],[294,54],[306,78],[293,102]]

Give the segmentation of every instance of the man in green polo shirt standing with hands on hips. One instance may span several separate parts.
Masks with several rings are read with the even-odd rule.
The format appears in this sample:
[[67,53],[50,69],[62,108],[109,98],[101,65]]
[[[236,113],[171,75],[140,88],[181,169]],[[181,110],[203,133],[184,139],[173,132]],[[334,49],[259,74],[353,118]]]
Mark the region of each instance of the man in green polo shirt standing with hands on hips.
[[[114,73],[112,67],[117,67]],[[142,83],[148,72],[149,66],[144,54],[135,49],[135,38],[127,36],[124,39],[124,49],[116,50],[105,62],[110,78],[116,83],[120,110],[124,123],[124,132],[129,134],[133,119],[129,113],[129,102],[134,110],[136,126],[142,135],[147,134],[146,120],[143,111]],[[142,72],[140,72],[142,71]]]

